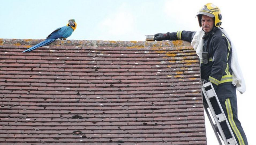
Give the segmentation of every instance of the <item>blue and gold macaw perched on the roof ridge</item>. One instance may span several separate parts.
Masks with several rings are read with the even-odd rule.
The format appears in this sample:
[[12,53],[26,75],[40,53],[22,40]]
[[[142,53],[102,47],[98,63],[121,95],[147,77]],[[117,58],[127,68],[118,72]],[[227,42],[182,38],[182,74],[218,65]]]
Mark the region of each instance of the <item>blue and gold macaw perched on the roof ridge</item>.
[[75,20],[74,19],[68,20],[68,24],[66,26],[56,29],[43,42],[40,42],[37,45],[30,47],[29,49],[27,49],[23,52],[27,52],[27,51],[29,52],[38,47],[48,45],[48,44],[52,43],[53,41],[55,41],[56,39],[66,40],[66,38],[71,36],[71,34],[73,33],[73,31],[75,31],[75,29],[76,29]]

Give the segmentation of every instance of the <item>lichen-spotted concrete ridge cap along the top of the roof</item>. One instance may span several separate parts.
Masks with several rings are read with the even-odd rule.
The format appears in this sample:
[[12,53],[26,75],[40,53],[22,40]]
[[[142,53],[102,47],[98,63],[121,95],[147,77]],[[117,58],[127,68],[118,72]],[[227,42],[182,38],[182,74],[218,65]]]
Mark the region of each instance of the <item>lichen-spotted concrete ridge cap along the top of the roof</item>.
[[[36,45],[44,39],[0,39],[1,45]],[[64,46],[94,46],[94,47],[175,47],[175,46],[190,46],[189,42],[177,41],[105,41],[105,40],[56,40],[49,46],[64,45]]]

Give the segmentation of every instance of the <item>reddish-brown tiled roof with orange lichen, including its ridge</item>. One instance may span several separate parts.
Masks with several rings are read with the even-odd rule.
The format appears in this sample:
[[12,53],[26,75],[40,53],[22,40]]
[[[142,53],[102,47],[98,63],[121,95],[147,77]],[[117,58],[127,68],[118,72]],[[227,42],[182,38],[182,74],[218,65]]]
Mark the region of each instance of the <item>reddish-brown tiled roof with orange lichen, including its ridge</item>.
[[0,39],[1,145],[206,145],[185,41]]

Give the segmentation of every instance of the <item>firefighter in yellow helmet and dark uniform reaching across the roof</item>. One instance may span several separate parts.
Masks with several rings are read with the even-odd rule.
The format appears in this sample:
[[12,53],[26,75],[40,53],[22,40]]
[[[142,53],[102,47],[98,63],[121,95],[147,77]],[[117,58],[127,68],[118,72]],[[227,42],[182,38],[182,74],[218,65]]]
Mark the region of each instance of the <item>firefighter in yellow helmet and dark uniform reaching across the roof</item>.
[[[212,3],[207,3],[198,11],[197,18],[201,27],[200,31],[157,33],[154,35],[154,40],[191,42],[199,56],[201,78],[212,82],[237,143],[248,145],[246,135],[238,120],[236,98],[236,89],[240,93],[244,93],[245,83],[236,59],[234,46],[231,45],[227,33],[220,27],[222,20],[220,9]],[[219,114],[216,112],[217,104],[212,105],[215,113]],[[231,138],[228,128],[222,124],[221,126],[226,138]]]

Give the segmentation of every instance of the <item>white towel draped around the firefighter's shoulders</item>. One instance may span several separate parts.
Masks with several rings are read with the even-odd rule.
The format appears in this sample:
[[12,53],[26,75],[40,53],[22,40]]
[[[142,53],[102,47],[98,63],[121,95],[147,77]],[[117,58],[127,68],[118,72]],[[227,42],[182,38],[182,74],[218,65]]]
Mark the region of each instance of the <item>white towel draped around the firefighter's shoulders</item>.
[[[220,29],[220,28],[218,28]],[[223,29],[220,29],[229,39],[229,36],[227,32]],[[200,28],[199,31],[196,32],[193,40],[191,41],[191,45],[193,48],[196,50],[196,54],[199,57],[200,64],[202,62],[202,52],[203,52],[203,36],[204,36],[204,31],[202,28]],[[229,39],[230,40],[230,39]],[[231,41],[231,40],[230,40]],[[238,57],[236,53],[236,49],[234,44],[231,41],[231,47],[232,47],[232,58],[231,58],[231,69],[233,71],[233,82],[232,84],[236,86],[236,89],[243,94],[245,92],[245,80],[242,74],[242,71],[240,69],[239,63],[238,63]]]

